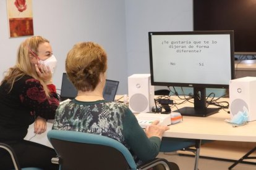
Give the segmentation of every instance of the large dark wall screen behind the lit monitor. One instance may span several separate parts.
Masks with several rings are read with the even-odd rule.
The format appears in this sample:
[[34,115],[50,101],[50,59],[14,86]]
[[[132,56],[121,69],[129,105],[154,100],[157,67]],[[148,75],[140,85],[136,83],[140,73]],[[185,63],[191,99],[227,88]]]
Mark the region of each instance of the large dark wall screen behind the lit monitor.
[[256,54],[256,1],[194,0],[194,31],[234,30],[235,54]]

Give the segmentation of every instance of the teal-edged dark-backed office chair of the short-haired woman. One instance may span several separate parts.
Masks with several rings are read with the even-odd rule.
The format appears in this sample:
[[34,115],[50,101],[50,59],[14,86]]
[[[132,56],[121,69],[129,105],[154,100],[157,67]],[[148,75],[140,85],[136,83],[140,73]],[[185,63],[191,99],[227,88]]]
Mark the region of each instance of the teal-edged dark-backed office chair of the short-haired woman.
[[52,163],[60,164],[60,169],[149,169],[158,164],[169,169],[162,158],[136,166],[129,150],[106,136],[59,130],[51,130],[47,136],[58,154]]

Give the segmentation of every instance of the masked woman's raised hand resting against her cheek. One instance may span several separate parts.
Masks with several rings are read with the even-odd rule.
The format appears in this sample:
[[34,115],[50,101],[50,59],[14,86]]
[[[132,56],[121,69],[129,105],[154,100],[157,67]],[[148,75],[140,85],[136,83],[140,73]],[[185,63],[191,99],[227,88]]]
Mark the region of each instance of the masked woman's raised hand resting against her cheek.
[[51,75],[51,69],[49,68],[48,65],[38,63],[38,64],[35,65],[35,68],[36,68],[37,75],[41,79],[43,79],[45,84],[53,84],[53,81],[52,81],[52,76],[53,75]]

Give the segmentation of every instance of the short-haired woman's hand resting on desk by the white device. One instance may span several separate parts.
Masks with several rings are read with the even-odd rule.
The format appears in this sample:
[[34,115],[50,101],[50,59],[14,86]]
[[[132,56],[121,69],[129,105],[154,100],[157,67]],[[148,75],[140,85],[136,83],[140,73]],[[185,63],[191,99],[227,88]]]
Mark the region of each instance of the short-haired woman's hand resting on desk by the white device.
[[150,124],[150,126],[146,127],[145,133],[148,138],[156,136],[162,139],[164,131],[167,131],[169,129],[168,126],[161,126],[161,125],[158,125],[158,123],[159,123],[159,120],[155,120],[153,121],[152,124]]

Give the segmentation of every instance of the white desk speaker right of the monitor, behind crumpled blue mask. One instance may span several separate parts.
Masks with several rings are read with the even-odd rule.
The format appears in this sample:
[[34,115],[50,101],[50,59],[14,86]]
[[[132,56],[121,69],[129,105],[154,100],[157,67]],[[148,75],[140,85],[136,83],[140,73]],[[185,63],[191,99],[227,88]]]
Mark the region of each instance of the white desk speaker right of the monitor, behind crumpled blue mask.
[[239,111],[248,110],[248,121],[256,120],[256,77],[232,79],[229,82],[231,119]]

